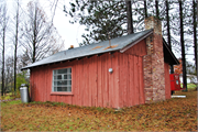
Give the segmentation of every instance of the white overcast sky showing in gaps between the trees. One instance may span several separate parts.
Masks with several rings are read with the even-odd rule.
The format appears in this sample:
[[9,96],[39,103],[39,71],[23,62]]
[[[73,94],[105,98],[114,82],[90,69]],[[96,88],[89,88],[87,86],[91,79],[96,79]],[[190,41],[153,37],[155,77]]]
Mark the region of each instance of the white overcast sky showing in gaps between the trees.
[[[31,0],[21,0],[21,7],[23,9],[26,9],[28,2]],[[41,3],[41,7],[43,7],[43,10],[47,14],[48,18],[52,16],[52,12],[54,12],[54,7],[52,8],[52,2],[55,0],[38,0]],[[50,2],[51,1],[51,2]],[[69,7],[70,0],[58,0],[55,15],[54,15],[54,26],[57,29],[59,35],[65,41],[65,50],[67,50],[70,45],[74,45],[75,47],[79,46],[78,43],[82,42],[81,34],[85,32],[85,26],[69,23],[69,16],[65,16],[65,12],[63,11],[64,4],[66,7]],[[9,7],[13,7],[14,0],[8,0]],[[52,9],[52,10],[51,10]],[[188,51],[188,54],[194,54],[193,48]],[[180,55],[176,54],[177,57],[180,57]],[[186,55],[187,61],[193,62],[194,55]]]

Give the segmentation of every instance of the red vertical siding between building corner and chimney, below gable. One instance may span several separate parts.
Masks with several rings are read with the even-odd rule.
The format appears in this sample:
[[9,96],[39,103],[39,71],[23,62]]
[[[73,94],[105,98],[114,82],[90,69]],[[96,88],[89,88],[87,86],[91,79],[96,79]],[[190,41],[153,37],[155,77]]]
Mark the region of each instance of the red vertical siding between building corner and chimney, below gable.
[[144,103],[142,57],[120,54],[119,106],[131,107]]

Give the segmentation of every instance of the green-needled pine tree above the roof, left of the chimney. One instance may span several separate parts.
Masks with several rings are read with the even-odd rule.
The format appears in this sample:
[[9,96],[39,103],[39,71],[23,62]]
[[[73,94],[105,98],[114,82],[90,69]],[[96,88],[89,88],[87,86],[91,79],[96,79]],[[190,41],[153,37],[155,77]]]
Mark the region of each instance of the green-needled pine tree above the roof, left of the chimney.
[[[70,2],[70,9],[64,9],[65,13],[72,16],[70,23],[79,22],[87,26],[89,33],[82,34],[85,38],[80,45],[87,45],[122,36],[135,31],[132,15],[138,11],[132,9],[134,1],[123,0],[99,0]],[[130,9],[131,8],[131,9]],[[134,11],[134,12],[133,12]],[[125,28],[128,24],[128,29]],[[109,34],[109,35],[108,35]]]

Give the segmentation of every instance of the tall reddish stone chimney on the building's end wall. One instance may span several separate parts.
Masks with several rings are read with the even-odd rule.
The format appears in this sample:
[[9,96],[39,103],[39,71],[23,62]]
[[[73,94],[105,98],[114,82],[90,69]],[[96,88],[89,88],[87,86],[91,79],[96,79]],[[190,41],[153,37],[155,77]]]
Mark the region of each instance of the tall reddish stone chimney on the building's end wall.
[[147,55],[143,58],[145,102],[165,100],[165,69],[162,23],[154,16],[144,20],[145,29],[153,29],[146,38]]

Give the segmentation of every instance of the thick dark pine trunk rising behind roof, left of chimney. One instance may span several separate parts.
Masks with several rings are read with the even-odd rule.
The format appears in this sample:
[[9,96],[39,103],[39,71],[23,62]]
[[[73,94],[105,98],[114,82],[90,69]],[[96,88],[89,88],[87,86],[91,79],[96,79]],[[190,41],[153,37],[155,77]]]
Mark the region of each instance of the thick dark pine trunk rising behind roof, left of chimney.
[[128,15],[128,34],[133,33],[133,16],[132,16],[132,8],[131,0],[125,0],[127,4],[127,15]]

